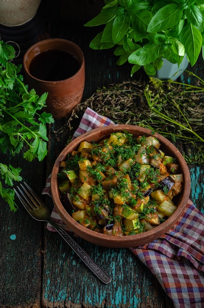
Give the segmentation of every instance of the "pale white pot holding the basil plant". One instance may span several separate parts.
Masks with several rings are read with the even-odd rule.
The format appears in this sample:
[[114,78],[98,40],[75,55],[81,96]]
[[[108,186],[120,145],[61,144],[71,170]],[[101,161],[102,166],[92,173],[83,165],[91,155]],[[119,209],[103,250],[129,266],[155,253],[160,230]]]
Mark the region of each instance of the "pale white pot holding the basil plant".
[[166,59],[163,59],[163,62],[164,64],[162,68],[159,69],[155,75],[156,78],[161,80],[166,80],[166,79],[176,80],[183,73],[183,71],[187,68],[189,64],[186,56],[183,58],[183,61],[181,62],[179,68],[178,64],[171,63]]

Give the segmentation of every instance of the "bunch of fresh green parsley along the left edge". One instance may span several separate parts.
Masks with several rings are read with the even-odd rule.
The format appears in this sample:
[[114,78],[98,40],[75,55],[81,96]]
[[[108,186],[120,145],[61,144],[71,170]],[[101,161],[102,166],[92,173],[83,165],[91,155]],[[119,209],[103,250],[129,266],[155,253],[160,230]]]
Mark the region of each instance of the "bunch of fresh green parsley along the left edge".
[[[21,65],[11,60],[15,57],[14,48],[0,41],[0,151],[15,156],[23,152],[24,158],[39,161],[47,155],[46,123],[53,123],[51,114],[38,110],[45,107],[47,93],[38,96],[34,90],[28,91],[20,74]],[[16,211],[14,190],[4,188],[21,181],[21,168],[0,162],[0,195],[8,203],[11,211]]]

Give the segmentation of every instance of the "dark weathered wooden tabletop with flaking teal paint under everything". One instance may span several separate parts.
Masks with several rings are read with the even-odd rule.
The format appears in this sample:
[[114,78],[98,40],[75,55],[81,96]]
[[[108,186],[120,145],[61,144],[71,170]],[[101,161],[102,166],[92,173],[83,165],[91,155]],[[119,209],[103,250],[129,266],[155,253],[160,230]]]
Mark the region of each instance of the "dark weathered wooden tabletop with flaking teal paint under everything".
[[[84,51],[86,86],[83,100],[98,87],[130,79],[130,66],[117,66],[112,51],[93,51],[88,47],[94,30],[79,24],[75,27],[52,25],[51,33],[53,37],[73,40]],[[202,77],[202,68],[204,70],[203,62],[198,62],[193,70],[201,72]],[[140,75],[141,71],[134,79],[139,79]],[[182,80],[186,78],[185,74],[182,75]],[[79,120],[76,120],[76,127]],[[49,152],[43,162],[25,162],[21,155],[1,158],[1,161],[21,167],[22,177],[39,195],[55,159],[76,128],[57,134],[64,123],[63,120],[56,121],[48,127]],[[204,166],[189,165],[189,169],[191,199],[204,212]],[[51,198],[46,201],[52,207]],[[12,235],[16,236],[15,240],[12,240]],[[20,204],[14,214],[1,200],[0,308],[174,307],[157,279],[129,249],[111,249],[81,239],[77,241],[110,274],[110,284],[104,285],[94,277],[57,233],[31,219]]]

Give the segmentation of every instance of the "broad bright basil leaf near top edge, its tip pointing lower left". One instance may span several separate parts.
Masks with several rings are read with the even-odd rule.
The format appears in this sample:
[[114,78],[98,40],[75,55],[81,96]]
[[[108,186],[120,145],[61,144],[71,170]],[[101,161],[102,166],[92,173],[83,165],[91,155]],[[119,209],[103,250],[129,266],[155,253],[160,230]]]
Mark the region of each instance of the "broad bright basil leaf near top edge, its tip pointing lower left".
[[183,12],[179,4],[170,3],[160,8],[151,19],[147,31],[158,32],[174,27],[181,20]]

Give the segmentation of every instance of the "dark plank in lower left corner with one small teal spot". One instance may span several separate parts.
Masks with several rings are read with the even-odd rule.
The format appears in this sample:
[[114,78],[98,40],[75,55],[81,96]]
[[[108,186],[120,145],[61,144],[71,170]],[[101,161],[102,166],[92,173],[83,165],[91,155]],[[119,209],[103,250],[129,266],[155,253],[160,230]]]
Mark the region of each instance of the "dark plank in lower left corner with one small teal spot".
[[0,307],[40,307],[42,225],[0,200]]

